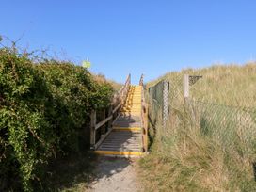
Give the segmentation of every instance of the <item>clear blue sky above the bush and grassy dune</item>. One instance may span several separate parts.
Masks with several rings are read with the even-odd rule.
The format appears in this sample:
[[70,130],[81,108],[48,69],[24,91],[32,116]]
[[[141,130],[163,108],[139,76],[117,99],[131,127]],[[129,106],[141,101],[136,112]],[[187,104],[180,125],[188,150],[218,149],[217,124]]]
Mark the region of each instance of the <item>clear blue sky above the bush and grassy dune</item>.
[[256,58],[255,0],[1,0],[0,34],[133,83]]

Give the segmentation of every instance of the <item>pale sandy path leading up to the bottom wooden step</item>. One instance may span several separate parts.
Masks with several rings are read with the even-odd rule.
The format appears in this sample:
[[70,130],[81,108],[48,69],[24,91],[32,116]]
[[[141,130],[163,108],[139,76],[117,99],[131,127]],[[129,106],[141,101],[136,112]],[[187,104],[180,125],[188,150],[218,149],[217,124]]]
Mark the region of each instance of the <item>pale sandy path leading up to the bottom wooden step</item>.
[[90,184],[89,192],[142,191],[136,179],[136,159],[99,157],[96,179]]

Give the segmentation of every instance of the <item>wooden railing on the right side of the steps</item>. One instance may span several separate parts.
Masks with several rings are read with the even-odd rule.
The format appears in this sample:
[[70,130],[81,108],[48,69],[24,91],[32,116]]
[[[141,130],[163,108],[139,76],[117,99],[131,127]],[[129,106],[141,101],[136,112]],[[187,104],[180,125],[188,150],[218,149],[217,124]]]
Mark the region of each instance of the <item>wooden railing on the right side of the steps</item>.
[[145,100],[143,74],[140,77],[139,85],[141,86],[142,145],[143,152],[148,152],[148,104]]

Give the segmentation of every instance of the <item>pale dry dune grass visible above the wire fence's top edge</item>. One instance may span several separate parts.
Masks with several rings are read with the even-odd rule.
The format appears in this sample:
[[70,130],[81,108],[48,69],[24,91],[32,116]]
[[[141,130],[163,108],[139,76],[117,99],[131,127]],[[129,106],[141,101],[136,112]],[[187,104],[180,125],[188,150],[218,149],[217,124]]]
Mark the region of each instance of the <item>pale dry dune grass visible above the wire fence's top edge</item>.
[[232,106],[256,106],[256,62],[243,66],[214,65],[205,69],[169,72],[149,82],[147,86],[151,87],[162,79],[168,79],[176,88],[175,93],[180,91],[179,94],[182,94],[182,79],[185,73],[203,76],[190,88],[190,95],[196,100]]

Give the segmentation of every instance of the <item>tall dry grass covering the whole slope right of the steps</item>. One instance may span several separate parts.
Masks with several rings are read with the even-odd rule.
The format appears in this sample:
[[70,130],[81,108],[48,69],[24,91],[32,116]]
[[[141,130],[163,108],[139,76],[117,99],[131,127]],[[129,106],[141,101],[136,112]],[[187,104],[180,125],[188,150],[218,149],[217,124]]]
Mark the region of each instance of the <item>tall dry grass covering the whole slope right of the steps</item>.
[[[161,119],[152,125],[152,152],[140,164],[146,189],[256,191],[255,72],[255,63],[213,66],[170,72],[148,84],[169,79],[170,115],[166,129]],[[203,76],[191,86],[186,103],[184,73]]]

